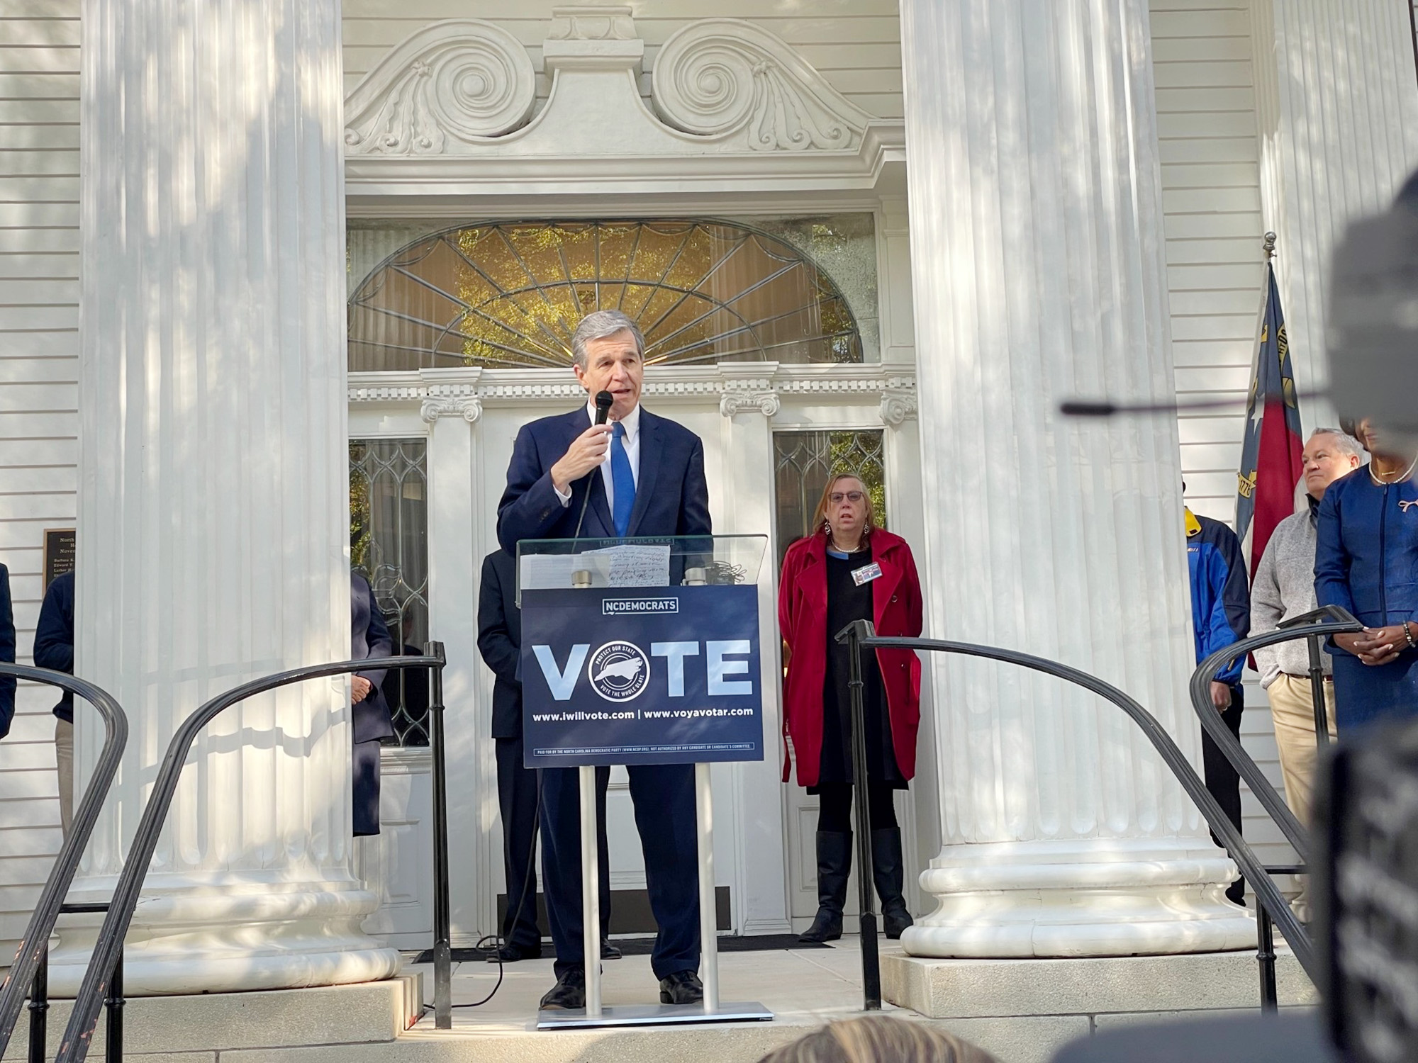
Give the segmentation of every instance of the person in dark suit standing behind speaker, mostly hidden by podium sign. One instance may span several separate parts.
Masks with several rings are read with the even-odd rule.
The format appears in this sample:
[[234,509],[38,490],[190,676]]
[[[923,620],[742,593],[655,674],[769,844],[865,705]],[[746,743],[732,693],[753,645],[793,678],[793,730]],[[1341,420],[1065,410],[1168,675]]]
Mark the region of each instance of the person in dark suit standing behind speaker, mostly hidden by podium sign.
[[[478,651],[492,669],[492,737],[498,751],[498,806],[502,812],[502,866],[508,883],[508,911],[502,920],[502,944],[489,962],[505,964],[542,955],[542,931],[536,924],[536,859],[532,846],[537,833],[536,771],[522,767],[522,611],[518,609],[516,563],[505,550],[482,558],[478,588]],[[610,768],[597,768],[600,781],[597,826],[600,836],[601,958],[618,960],[620,950],[605,935],[611,924],[611,865],[605,845],[605,782]],[[600,778],[604,775],[604,778]]]

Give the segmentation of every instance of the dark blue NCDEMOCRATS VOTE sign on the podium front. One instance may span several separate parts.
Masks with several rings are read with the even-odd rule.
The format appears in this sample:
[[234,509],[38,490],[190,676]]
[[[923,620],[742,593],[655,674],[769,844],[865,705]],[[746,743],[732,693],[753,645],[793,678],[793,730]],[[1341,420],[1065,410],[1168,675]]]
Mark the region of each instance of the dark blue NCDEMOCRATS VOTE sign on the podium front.
[[757,587],[522,591],[529,768],[763,760]]

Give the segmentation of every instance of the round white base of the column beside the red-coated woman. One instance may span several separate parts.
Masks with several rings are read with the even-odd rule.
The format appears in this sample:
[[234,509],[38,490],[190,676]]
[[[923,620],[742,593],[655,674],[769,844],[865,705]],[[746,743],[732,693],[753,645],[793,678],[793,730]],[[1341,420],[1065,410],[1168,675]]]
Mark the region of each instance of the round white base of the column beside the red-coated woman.
[[1201,839],[947,846],[922,873],[936,897],[900,944],[915,957],[1126,957],[1255,948],[1236,877]]

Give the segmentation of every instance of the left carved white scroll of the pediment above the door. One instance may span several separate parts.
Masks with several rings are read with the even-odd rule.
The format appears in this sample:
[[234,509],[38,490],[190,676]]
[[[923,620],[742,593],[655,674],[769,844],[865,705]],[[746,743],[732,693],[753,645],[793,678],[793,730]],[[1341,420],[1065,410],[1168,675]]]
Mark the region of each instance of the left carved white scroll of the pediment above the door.
[[345,101],[345,154],[458,154],[523,126],[526,48],[495,23],[450,18],[394,47]]

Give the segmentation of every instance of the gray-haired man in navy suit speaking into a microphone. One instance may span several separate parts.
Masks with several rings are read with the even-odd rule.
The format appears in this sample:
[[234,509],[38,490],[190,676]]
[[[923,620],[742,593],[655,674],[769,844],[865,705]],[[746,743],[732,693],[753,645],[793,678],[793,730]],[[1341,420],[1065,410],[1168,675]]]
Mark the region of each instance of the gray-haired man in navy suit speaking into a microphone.
[[[688,428],[640,408],[645,340],[618,310],[587,315],[571,337],[577,381],[613,397],[610,424],[596,408],[545,417],[518,432],[498,540],[516,554],[523,539],[570,539],[588,497],[584,537],[708,536],[703,444]],[[699,968],[695,772],[691,764],[628,768],[635,826],[645,853],[649,907],[659,933],[651,967],[664,1003],[703,999]],[[600,794],[605,791],[598,780]],[[581,948],[580,789],[576,768],[542,771],[542,884],[557,982],[543,1008],[586,1006]]]

